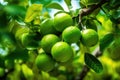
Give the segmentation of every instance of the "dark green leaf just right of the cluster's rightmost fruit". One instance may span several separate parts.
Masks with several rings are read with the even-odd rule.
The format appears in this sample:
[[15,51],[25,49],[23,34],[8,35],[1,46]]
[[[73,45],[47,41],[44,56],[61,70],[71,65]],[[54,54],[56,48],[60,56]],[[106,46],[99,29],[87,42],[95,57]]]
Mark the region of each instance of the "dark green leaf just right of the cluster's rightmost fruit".
[[100,51],[103,52],[104,49],[113,41],[113,33],[107,33],[100,39]]

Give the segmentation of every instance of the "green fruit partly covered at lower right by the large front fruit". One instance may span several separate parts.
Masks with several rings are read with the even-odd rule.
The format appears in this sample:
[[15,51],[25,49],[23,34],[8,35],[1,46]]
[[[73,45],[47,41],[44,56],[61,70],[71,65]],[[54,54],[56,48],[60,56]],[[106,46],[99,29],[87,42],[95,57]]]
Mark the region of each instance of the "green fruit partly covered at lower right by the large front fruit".
[[46,53],[50,53],[52,46],[58,41],[60,41],[60,39],[56,35],[47,34],[42,38],[40,45]]

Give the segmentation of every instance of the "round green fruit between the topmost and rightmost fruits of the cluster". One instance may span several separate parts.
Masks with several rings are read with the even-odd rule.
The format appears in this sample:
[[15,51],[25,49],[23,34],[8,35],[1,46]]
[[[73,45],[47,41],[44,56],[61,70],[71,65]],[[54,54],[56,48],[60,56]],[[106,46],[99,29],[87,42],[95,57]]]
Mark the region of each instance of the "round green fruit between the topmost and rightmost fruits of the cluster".
[[68,43],[78,42],[80,40],[80,37],[81,37],[81,32],[80,32],[79,28],[77,28],[75,26],[67,27],[62,32],[63,40]]

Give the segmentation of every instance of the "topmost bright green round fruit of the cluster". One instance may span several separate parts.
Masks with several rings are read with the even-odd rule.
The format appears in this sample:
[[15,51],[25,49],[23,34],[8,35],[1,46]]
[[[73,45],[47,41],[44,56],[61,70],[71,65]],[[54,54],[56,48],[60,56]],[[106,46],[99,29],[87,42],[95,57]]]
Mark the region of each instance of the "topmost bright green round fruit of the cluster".
[[62,32],[66,27],[73,24],[72,17],[67,13],[59,13],[54,17],[54,27],[57,31]]

